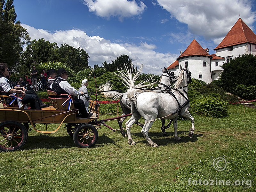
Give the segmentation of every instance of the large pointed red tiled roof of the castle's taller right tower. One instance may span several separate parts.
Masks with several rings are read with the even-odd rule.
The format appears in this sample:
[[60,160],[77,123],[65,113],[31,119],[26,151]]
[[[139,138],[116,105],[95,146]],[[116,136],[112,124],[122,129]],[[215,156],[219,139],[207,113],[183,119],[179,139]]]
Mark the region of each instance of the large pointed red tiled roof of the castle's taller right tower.
[[241,18],[239,18],[236,21],[236,24],[230,29],[225,38],[214,50],[243,43],[256,44],[256,35],[244,23],[244,21]]

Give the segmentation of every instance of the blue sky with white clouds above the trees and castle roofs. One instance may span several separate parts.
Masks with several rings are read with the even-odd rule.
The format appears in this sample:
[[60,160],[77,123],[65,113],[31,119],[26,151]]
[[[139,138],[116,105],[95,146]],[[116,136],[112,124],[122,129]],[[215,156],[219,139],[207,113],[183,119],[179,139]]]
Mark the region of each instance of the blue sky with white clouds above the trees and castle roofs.
[[83,48],[89,65],[126,54],[161,74],[195,39],[209,53],[240,17],[256,33],[255,0],[14,0],[32,39]]

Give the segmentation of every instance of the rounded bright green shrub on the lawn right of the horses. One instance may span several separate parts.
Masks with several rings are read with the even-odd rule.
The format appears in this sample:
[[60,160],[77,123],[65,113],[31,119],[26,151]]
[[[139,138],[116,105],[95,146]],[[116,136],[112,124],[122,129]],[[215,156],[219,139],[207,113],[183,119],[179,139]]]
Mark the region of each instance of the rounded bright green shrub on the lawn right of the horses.
[[228,115],[228,103],[217,97],[201,96],[192,104],[193,111],[198,115],[223,117]]

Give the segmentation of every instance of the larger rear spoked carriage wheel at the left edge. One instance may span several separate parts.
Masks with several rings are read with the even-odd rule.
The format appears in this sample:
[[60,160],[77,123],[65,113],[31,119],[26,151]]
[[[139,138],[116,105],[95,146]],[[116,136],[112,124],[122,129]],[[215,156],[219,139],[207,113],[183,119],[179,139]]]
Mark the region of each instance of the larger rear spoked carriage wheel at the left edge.
[[24,125],[17,121],[0,124],[0,151],[15,151],[23,147],[28,139]]

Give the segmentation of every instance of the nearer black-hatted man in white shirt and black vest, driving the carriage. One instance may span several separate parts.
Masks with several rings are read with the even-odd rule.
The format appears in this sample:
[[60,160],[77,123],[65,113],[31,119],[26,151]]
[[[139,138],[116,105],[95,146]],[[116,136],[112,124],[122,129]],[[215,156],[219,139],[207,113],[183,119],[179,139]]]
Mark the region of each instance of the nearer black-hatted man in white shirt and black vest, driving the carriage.
[[[78,96],[84,94],[84,92],[77,91],[74,87],[72,87],[68,81],[68,74],[64,68],[59,68],[57,70],[57,75],[55,81],[51,84],[50,88],[52,91],[56,92],[58,95],[60,94],[69,94]],[[87,110],[84,106],[84,101],[78,98],[74,98],[74,106],[78,109],[79,115],[78,118],[90,118],[90,115],[87,113]]]

